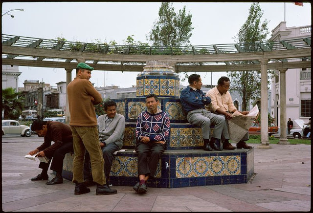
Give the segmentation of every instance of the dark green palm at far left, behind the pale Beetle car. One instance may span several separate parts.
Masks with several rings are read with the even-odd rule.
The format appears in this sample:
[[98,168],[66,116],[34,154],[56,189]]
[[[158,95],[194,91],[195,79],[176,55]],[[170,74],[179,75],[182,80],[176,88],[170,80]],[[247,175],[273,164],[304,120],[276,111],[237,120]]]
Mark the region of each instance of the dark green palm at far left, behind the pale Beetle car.
[[2,89],[2,110],[3,119],[17,120],[24,108],[22,92],[16,92],[16,89],[8,87]]

